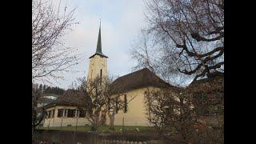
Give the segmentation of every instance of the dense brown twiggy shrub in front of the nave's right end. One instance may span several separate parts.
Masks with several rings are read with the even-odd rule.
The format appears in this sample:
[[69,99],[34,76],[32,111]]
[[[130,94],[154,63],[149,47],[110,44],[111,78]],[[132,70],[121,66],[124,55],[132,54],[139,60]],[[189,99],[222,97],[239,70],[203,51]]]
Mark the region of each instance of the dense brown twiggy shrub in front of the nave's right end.
[[[194,124],[192,99],[183,94],[183,88],[147,90],[147,118],[160,130],[177,131],[183,141],[188,141]],[[171,131],[173,132],[173,131]]]

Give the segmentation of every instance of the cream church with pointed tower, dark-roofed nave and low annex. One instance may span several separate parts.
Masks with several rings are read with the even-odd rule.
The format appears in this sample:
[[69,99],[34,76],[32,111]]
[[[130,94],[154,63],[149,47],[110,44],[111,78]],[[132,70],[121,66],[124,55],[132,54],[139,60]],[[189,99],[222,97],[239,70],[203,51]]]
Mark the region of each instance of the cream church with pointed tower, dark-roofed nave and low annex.
[[[101,26],[98,32],[98,42],[95,54],[90,56],[90,65],[87,80],[93,80],[96,77],[107,77],[107,56],[102,53]],[[127,112],[122,110],[115,114],[114,125],[121,126],[150,126],[146,118],[145,92],[146,90],[160,90],[167,87],[173,87],[163,81],[156,74],[147,68],[134,71],[133,73],[123,75],[112,83],[114,86],[113,97],[117,95],[126,95]],[[78,110],[86,99],[82,94],[73,94],[72,90],[58,97],[54,102],[45,106],[47,116],[43,126],[85,126],[90,122],[85,118],[85,114]],[[106,124],[109,124],[109,118],[106,117]]]

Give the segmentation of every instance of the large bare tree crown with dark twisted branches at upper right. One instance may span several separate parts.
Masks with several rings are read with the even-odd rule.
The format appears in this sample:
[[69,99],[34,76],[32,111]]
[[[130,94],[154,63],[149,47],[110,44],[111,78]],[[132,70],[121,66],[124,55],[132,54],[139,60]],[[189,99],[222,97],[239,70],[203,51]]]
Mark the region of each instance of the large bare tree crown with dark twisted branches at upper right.
[[146,10],[148,27],[143,33],[154,45],[142,46],[147,51],[154,47],[160,56],[138,53],[138,65],[152,62],[146,64],[162,74],[194,79],[224,72],[224,0],[147,0]]

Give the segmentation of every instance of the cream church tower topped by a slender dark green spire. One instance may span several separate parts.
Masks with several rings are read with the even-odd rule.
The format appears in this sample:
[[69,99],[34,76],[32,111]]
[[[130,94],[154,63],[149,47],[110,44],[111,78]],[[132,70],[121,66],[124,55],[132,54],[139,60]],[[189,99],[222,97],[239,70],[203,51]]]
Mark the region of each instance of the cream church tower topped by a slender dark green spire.
[[98,31],[98,42],[96,53],[90,56],[90,65],[87,80],[94,80],[96,77],[107,77],[107,56],[102,54],[101,24]]

